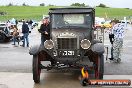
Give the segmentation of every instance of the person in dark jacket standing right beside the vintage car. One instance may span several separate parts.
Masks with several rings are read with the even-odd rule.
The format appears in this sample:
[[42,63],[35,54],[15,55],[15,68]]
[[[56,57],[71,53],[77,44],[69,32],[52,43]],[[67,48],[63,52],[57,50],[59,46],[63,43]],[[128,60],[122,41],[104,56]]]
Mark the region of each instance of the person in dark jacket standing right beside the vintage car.
[[41,33],[41,44],[44,45],[44,42],[50,39],[50,24],[48,17],[43,19],[43,24],[41,24],[39,32]]

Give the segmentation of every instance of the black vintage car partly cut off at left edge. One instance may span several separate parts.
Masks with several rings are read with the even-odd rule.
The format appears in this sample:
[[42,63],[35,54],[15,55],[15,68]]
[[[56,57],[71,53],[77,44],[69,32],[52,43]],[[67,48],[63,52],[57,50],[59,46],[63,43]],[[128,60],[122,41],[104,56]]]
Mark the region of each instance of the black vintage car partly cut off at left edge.
[[9,41],[12,36],[10,35],[10,29],[5,23],[0,23],[0,42]]

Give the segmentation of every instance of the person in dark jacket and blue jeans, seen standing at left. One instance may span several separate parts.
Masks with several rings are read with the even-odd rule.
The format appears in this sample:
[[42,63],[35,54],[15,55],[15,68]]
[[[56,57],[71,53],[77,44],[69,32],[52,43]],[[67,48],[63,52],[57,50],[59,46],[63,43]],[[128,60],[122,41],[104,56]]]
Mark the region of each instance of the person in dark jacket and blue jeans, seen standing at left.
[[29,39],[28,39],[28,35],[29,35],[29,27],[26,24],[25,21],[23,21],[23,25],[22,25],[22,33],[23,33],[23,47],[25,47],[25,40],[27,43],[27,47],[29,47]]

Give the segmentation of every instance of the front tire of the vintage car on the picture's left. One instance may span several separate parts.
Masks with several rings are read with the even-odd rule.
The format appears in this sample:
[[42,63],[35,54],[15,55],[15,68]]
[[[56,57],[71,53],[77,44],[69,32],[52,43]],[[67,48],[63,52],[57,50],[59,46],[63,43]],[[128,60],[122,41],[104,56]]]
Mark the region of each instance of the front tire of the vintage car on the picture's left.
[[39,83],[41,68],[40,68],[40,61],[38,59],[38,55],[33,55],[32,71],[33,71],[34,82]]

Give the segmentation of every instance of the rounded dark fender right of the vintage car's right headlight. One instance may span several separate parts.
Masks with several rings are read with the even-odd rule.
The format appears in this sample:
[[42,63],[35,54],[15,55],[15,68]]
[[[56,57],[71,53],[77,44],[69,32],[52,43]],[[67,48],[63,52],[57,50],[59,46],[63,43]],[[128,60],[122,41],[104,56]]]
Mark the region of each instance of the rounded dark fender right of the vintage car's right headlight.
[[103,43],[96,43],[92,45],[91,50],[98,54],[103,54],[105,52]]

